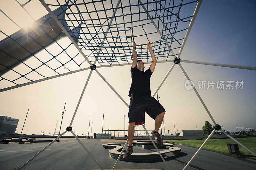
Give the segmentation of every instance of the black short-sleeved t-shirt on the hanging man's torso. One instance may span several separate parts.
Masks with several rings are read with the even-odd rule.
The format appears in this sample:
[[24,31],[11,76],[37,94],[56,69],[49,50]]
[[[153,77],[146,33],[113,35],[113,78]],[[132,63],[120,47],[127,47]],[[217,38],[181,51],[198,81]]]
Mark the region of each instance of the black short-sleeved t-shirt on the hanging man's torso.
[[129,91],[129,95],[150,95],[150,77],[152,75],[152,71],[148,68],[148,70],[140,71],[137,69],[137,67],[132,68],[131,67],[131,73],[132,73],[132,85]]

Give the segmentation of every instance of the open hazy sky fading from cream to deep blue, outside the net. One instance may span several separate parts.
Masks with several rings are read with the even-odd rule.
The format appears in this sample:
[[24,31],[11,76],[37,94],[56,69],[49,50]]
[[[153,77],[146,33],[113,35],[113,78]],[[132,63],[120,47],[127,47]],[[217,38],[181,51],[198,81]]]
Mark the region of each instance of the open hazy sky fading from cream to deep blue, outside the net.
[[[203,1],[180,55],[182,60],[255,67],[256,3],[235,0],[230,2],[225,0]],[[17,13],[24,13],[24,10],[15,1],[3,3],[0,9],[21,27],[29,24],[28,20],[20,20],[17,17]],[[44,7],[38,6],[38,4],[37,8],[31,9],[31,12],[35,18],[47,14]],[[0,30],[4,33],[11,35],[20,29],[8,21],[8,18],[6,19],[2,13],[0,18],[3,23],[0,25]],[[1,39],[3,38],[4,36],[1,34]],[[68,43],[66,39],[63,41],[67,41],[63,43]],[[137,41],[137,44],[144,42]],[[224,130],[234,132],[237,131],[236,127],[241,126],[256,128],[255,70],[182,62],[181,65],[195,84],[198,81],[244,81],[243,89],[199,89],[197,91],[215,122],[223,126]],[[152,95],[171,66],[172,63],[156,64],[150,82]],[[97,69],[128,104],[130,101],[128,92],[131,86],[130,67],[128,65]],[[145,64],[145,67],[148,69],[149,64]],[[0,115],[19,119],[16,132],[20,133],[29,108],[22,133],[40,134],[42,131],[45,135],[52,134],[57,121],[56,132],[60,130],[61,112],[66,102],[66,111],[61,127],[61,132],[63,132],[72,119],[89,72],[90,70],[85,70],[1,92]],[[185,81],[186,77],[179,66],[175,65],[158,91],[159,101],[166,110],[162,129],[170,130],[170,134],[175,132],[173,122],[179,132],[181,129],[196,130],[196,126],[202,130],[205,121],[209,121],[213,125],[196,93],[193,90],[186,90]],[[103,129],[110,129],[110,126],[111,129],[124,129],[124,115],[126,115],[125,129],[127,129],[128,107],[93,71],[72,124],[73,131],[78,135],[88,134],[89,119],[91,118],[92,134],[101,132],[103,113]],[[145,118],[146,128],[152,130],[154,120],[146,113]],[[143,128],[139,126],[136,129],[142,130]],[[71,135],[68,133],[65,135]],[[91,124],[89,133],[91,133]]]

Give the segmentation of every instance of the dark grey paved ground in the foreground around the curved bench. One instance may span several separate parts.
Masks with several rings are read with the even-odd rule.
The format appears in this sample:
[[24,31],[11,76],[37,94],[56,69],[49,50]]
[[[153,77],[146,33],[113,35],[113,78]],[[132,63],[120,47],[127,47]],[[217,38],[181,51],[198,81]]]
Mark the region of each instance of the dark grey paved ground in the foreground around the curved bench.
[[[102,144],[110,142],[102,142],[101,140],[81,138],[82,143],[98,160],[104,169],[112,169],[116,159],[109,157],[108,149],[104,149]],[[113,140],[114,141],[114,140]],[[116,140],[115,140],[116,142]],[[121,141],[120,141],[121,142]],[[18,169],[26,163],[37,152],[43,149],[48,143],[35,144],[0,144],[0,169]],[[166,163],[170,169],[183,169],[185,163],[197,151],[196,148],[174,145],[181,148],[181,154],[174,156],[167,154]],[[134,152],[152,152],[155,150],[143,150],[140,146],[134,147]],[[223,155],[217,152],[202,150],[196,159],[192,162],[192,166],[188,169],[256,169],[256,164],[246,162],[245,159],[238,159]],[[119,161],[117,169],[166,169],[162,161],[155,162],[129,162]],[[61,138],[60,142],[55,142],[47,150],[42,152],[24,169],[99,169],[92,161],[91,157],[85,152],[82,146],[75,138]]]

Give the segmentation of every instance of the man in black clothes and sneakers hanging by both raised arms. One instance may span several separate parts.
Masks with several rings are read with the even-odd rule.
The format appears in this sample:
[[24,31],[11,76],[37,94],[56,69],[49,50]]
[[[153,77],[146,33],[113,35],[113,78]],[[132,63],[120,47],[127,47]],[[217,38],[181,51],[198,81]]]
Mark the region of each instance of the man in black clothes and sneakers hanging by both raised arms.
[[135,50],[135,42],[133,42],[133,60],[132,60],[132,85],[129,91],[130,106],[129,106],[129,125],[128,125],[128,142],[129,146],[124,153],[124,159],[130,159],[133,152],[132,140],[134,136],[134,126],[141,125],[145,122],[145,111],[147,114],[155,120],[155,128],[151,134],[156,139],[156,143],[163,146],[163,141],[158,133],[160,125],[164,119],[165,109],[164,107],[151,96],[150,91],[150,77],[156,67],[156,57],[153,53],[151,43],[148,43],[148,50],[150,52],[152,63],[149,69],[144,71],[144,63],[142,60],[137,61],[137,53]]

